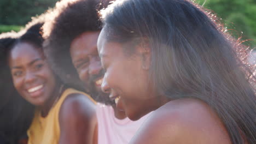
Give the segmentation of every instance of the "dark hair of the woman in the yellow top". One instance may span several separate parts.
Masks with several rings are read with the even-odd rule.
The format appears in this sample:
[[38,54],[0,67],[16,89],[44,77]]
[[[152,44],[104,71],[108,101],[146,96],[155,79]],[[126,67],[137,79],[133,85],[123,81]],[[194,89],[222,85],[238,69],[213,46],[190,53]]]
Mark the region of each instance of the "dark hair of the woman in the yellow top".
[[43,17],[38,17],[27,23],[25,29],[19,33],[0,35],[0,136],[10,144],[18,143],[22,138],[26,139],[26,131],[32,123],[35,107],[23,99],[14,87],[8,65],[9,53],[15,45],[25,41],[42,49],[40,28],[43,23]]

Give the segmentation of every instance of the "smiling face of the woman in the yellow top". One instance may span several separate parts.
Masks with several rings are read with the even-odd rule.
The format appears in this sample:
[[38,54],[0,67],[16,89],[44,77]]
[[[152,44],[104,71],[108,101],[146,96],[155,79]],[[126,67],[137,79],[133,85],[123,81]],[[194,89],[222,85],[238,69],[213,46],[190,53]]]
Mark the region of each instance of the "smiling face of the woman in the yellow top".
[[16,44],[9,53],[9,68],[20,95],[33,105],[44,105],[56,87],[56,78],[43,51],[31,43]]

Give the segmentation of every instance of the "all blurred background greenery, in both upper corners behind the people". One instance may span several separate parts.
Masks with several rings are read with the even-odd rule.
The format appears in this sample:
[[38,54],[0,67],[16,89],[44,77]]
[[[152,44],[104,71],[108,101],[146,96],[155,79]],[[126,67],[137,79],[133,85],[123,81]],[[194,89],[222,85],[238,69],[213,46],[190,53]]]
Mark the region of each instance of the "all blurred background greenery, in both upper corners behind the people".
[[[1,0],[0,33],[19,31],[32,16],[54,7],[57,0]],[[235,37],[242,37],[251,49],[256,47],[255,0],[195,0],[213,10]]]

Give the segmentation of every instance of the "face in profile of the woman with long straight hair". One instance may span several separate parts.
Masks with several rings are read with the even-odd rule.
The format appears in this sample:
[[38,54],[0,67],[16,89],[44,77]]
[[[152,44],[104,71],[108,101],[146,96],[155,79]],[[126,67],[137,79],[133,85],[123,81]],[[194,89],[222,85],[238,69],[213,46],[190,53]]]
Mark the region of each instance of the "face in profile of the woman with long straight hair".
[[107,41],[104,30],[101,32],[98,52],[105,70],[101,87],[103,92],[110,93],[110,98],[117,99],[118,109],[123,109],[130,119],[137,120],[158,104],[148,80],[149,69],[144,67],[149,65],[144,56],[149,57],[150,53],[138,46],[135,53],[127,56],[123,47],[123,44]]

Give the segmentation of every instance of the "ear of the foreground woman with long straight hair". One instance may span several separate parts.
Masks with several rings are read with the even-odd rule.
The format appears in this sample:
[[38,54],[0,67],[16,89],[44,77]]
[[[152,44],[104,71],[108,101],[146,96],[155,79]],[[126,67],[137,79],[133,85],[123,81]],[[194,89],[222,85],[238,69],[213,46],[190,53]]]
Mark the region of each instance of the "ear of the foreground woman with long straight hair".
[[151,62],[151,49],[149,47],[149,43],[146,40],[143,40],[136,48],[142,60],[142,69],[149,70]]

